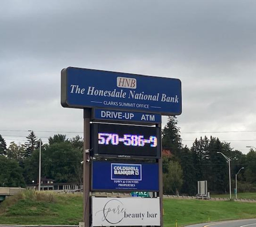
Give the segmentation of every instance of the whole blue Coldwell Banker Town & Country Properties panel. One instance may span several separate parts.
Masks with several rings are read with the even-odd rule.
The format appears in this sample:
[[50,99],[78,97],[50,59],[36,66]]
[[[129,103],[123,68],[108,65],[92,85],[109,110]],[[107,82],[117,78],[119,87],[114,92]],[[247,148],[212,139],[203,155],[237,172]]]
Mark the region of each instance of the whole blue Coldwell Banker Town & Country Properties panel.
[[93,161],[92,190],[158,191],[158,164]]

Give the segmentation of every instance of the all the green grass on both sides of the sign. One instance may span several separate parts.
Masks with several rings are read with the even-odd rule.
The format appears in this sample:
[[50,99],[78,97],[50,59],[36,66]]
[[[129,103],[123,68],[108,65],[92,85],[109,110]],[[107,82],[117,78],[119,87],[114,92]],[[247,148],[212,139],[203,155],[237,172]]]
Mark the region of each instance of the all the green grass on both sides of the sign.
[[[243,197],[255,197],[244,194]],[[238,218],[256,218],[256,203],[164,199],[164,226]],[[82,195],[26,191],[0,205],[0,224],[71,224],[82,221]]]

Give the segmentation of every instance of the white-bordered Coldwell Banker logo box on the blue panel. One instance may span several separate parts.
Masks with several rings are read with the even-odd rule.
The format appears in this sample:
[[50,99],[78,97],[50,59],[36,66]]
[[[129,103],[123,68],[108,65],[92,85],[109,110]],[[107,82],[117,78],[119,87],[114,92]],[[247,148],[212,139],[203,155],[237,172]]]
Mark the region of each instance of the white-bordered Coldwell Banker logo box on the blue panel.
[[111,164],[111,180],[141,181],[141,164]]

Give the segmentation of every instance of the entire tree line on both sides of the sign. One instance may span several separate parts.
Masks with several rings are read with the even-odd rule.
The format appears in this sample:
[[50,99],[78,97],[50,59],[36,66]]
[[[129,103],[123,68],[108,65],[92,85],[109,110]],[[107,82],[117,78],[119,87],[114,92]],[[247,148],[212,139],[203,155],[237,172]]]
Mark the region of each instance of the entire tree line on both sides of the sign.
[[[33,131],[26,138],[24,144],[11,142],[7,147],[0,134],[0,187],[25,187],[38,182],[39,139]],[[79,136],[49,137],[41,144],[42,177],[82,185],[82,152]],[[231,159],[232,188],[235,174],[244,167],[238,175],[239,191],[256,191],[256,151],[243,154],[212,136],[196,138],[189,148],[182,144],[177,118],[169,117],[162,129],[163,193],[196,195],[200,180],[207,181],[211,193],[229,193],[229,165],[217,152]]]

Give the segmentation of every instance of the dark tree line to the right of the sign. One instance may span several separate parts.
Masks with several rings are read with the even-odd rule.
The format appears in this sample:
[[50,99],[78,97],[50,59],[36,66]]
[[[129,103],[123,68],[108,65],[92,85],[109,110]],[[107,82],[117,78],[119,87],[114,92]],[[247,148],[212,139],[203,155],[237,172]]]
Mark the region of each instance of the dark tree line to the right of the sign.
[[[197,181],[207,181],[213,194],[229,193],[229,165],[221,155],[231,159],[231,186],[235,175],[239,191],[256,191],[256,152],[233,150],[230,143],[206,136],[196,138],[191,148],[183,146],[176,117],[169,117],[162,130],[163,190],[165,194],[196,195]],[[234,191],[233,191],[234,192]]]

